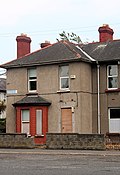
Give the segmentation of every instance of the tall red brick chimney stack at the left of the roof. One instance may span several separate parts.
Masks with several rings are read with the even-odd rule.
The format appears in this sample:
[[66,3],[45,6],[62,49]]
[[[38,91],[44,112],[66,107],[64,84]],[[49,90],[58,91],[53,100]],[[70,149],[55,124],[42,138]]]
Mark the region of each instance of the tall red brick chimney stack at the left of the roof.
[[16,37],[17,41],[17,58],[20,58],[28,53],[30,53],[30,43],[31,38],[26,34],[21,34]]

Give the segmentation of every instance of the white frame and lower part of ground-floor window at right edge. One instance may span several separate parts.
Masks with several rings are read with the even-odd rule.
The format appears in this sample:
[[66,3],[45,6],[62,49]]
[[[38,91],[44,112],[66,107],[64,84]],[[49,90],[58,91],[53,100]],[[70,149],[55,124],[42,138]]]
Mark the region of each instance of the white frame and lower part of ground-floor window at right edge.
[[[108,109],[108,118],[109,118],[109,132],[110,133],[118,133],[118,132],[120,132],[120,118],[111,118],[110,117],[110,110],[111,109],[120,109],[120,108],[109,108]],[[115,124],[115,122],[117,122],[117,126],[119,125],[119,131],[116,131],[117,130],[117,126],[115,126],[115,127],[112,127],[111,125],[113,124]],[[115,129],[114,129],[115,128]]]

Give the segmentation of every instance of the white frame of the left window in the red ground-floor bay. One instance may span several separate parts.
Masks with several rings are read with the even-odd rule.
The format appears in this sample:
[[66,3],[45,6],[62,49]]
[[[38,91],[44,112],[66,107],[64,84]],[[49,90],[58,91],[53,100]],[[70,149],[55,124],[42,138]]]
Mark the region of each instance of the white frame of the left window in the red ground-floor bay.
[[[29,111],[29,120],[23,120],[23,111]],[[29,129],[28,129],[28,132],[26,134],[30,135],[30,110],[29,109],[22,109],[21,110],[21,133],[25,133],[24,129],[23,129],[24,124],[29,125]]]

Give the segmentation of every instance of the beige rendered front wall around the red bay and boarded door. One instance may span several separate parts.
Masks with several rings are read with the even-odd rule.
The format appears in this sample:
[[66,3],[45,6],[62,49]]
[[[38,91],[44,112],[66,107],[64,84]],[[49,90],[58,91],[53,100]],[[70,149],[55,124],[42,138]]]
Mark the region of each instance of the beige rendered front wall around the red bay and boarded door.
[[[61,132],[61,108],[73,108],[73,132],[92,133],[92,72],[91,64],[70,63],[70,92],[59,89],[59,65],[37,67],[37,93],[51,102],[48,109],[48,132]],[[7,94],[7,132],[16,131],[16,111],[13,103],[28,93],[27,68],[9,69],[7,89],[17,90]]]

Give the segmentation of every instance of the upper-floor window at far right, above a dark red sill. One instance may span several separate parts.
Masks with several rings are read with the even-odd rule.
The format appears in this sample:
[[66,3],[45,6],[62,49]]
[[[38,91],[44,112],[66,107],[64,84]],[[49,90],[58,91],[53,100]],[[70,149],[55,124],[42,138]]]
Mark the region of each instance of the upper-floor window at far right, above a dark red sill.
[[108,65],[107,67],[107,86],[108,89],[118,88],[118,66]]

